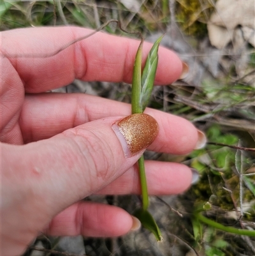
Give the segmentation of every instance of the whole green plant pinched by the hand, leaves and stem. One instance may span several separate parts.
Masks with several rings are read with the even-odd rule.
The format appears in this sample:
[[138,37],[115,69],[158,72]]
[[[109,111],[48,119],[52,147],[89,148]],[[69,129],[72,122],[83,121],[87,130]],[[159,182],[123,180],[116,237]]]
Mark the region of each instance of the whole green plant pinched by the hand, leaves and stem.
[[[135,57],[135,65],[133,70],[133,81],[132,81],[132,95],[131,95],[131,106],[132,114],[141,114],[143,110],[147,107],[149,102],[150,94],[154,85],[154,79],[157,70],[157,50],[159,48],[159,43],[161,41],[159,38],[150,49],[149,55],[147,57],[145,68],[142,72],[142,47],[143,38],[138,47]],[[142,190],[142,208],[135,211],[134,215],[140,220],[143,227],[150,230],[156,237],[157,241],[162,241],[161,231],[157,226],[152,215],[147,211],[149,207],[149,195],[147,189],[147,181],[145,176],[145,165],[143,155],[138,160],[140,185]]]

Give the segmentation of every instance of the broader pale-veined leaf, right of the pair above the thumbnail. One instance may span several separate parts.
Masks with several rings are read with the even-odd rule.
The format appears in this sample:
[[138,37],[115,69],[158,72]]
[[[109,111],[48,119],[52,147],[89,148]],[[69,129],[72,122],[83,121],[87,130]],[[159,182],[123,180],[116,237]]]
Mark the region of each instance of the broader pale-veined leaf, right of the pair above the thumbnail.
[[[164,36],[164,35],[163,35]],[[142,111],[145,110],[147,104],[150,100],[150,94],[152,93],[152,88],[154,86],[154,79],[157,71],[158,55],[157,51],[159,50],[159,43],[161,42],[163,36],[161,36],[150,49],[149,55],[147,57],[145,67],[143,68],[142,74],[142,93],[141,93],[141,103]]]

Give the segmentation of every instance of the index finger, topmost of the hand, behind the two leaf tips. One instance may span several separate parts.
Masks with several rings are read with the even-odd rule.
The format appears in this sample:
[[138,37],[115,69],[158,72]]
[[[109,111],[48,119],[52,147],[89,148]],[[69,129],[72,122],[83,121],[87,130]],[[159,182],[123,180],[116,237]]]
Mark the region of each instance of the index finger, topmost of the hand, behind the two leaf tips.
[[[24,81],[27,93],[45,92],[68,85],[74,79],[130,83],[138,40],[99,32],[54,56],[43,57],[91,32],[81,27],[31,27],[4,31],[1,51]],[[144,43],[143,64],[151,47],[151,43]],[[40,57],[33,57],[33,54]],[[160,47],[155,84],[170,84],[180,77],[181,72],[179,57]]]

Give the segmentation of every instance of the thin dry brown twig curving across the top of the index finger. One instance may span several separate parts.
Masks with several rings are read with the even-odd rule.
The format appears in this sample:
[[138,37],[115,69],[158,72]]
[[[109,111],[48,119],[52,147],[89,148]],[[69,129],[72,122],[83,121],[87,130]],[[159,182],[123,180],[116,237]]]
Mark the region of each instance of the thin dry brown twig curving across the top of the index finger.
[[116,22],[119,26],[119,29],[121,31],[123,31],[124,33],[138,34],[140,36],[140,38],[143,40],[143,36],[142,36],[142,33],[140,31],[134,31],[134,32],[126,31],[126,30],[122,29],[119,20],[108,20],[107,22],[105,22],[102,26],[98,27],[98,29],[96,29],[92,33],[89,33],[86,36],[82,36],[82,37],[77,38],[73,41],[70,41],[66,45],[63,45],[59,50],[55,50],[54,52],[50,52],[48,54],[43,54],[43,55],[42,54],[6,54],[6,53],[4,53],[4,56],[6,56],[6,57],[27,57],[27,58],[31,58],[31,57],[34,57],[34,58],[52,57],[52,56],[55,56],[55,55],[59,54],[59,52],[62,52],[62,50],[67,49],[69,46],[73,45],[74,43],[77,43],[78,41],[82,41],[86,38],[89,38],[90,36],[93,36],[94,34],[98,33],[99,31],[101,31],[103,28],[105,28],[106,26],[108,26],[112,22]]

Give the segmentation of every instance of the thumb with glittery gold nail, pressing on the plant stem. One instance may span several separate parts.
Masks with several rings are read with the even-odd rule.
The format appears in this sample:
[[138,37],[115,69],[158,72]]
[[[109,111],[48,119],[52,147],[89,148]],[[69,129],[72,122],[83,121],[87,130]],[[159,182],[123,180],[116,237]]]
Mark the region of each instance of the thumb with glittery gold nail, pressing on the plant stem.
[[121,118],[98,119],[24,146],[3,144],[3,184],[8,184],[3,198],[40,203],[55,215],[109,184],[140,158],[158,132],[147,114]]

